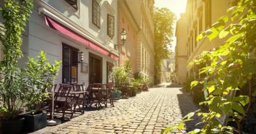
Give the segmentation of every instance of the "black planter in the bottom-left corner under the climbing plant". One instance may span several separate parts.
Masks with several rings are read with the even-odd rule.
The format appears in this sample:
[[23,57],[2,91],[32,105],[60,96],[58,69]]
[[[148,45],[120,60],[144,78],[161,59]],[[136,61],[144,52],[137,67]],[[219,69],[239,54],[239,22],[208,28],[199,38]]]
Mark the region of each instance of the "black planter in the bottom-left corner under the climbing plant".
[[20,134],[23,132],[24,118],[18,120],[2,120],[1,130],[3,134]]

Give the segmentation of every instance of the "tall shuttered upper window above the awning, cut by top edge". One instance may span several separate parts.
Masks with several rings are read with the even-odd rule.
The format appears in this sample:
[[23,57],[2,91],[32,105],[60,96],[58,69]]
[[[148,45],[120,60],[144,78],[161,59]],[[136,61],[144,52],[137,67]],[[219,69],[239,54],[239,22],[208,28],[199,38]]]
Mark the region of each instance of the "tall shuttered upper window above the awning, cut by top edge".
[[93,0],[93,24],[101,27],[101,7],[96,0]]

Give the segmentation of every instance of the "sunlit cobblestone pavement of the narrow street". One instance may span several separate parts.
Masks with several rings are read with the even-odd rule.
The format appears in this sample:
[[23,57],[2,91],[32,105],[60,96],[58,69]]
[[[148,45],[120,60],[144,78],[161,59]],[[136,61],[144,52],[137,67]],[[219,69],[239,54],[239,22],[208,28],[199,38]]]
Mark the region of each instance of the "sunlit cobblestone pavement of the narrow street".
[[[180,88],[150,88],[136,97],[118,100],[115,107],[88,111],[36,133],[160,133],[196,109],[190,95],[182,93]],[[194,129],[196,121],[188,122],[186,130]]]

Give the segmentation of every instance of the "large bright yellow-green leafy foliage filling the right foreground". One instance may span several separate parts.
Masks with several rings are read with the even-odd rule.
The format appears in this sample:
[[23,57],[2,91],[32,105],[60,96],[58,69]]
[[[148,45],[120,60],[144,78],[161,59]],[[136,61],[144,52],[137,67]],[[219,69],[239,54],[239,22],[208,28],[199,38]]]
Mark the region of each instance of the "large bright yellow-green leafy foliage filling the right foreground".
[[[252,82],[256,73],[256,1],[238,0],[228,9],[212,28],[198,35],[198,40],[224,38],[225,42],[215,51],[204,51],[192,64],[205,64],[199,74],[206,74],[191,86],[203,84],[205,101],[201,102],[208,112],[193,112],[201,117],[201,129],[190,133],[243,133],[242,125],[256,95]],[[244,88],[248,85],[248,88]],[[247,94],[232,96],[244,90]],[[236,125],[222,125],[217,118],[226,115],[227,121]],[[187,116],[184,120],[190,120]],[[181,124],[184,121],[181,122]],[[166,132],[177,130],[178,125],[168,127]],[[181,128],[179,128],[181,129]]]

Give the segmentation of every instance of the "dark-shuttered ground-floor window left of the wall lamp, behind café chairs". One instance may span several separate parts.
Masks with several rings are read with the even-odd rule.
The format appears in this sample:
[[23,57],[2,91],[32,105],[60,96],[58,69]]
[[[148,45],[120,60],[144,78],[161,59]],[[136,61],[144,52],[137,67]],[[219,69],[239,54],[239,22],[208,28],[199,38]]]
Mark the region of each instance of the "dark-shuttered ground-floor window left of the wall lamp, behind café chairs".
[[78,49],[63,43],[62,83],[77,83]]

